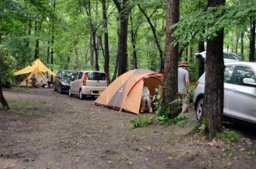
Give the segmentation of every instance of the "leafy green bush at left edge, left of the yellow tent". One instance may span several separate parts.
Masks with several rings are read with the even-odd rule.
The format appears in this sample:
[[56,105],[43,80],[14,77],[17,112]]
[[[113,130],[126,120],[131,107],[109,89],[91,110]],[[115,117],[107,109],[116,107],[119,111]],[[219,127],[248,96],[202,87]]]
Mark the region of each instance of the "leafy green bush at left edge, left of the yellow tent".
[[0,78],[2,83],[10,83],[16,61],[15,58],[11,56],[9,50],[3,45],[0,45],[0,65]]

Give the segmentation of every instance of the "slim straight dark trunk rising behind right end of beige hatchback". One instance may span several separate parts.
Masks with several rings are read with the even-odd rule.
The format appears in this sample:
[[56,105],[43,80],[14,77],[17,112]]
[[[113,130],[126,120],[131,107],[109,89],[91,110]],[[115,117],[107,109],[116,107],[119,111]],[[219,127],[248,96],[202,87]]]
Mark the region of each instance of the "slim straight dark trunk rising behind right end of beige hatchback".
[[108,46],[108,23],[107,23],[107,10],[106,1],[102,0],[102,19],[103,19],[103,29],[104,29],[104,71],[109,77],[109,46]]

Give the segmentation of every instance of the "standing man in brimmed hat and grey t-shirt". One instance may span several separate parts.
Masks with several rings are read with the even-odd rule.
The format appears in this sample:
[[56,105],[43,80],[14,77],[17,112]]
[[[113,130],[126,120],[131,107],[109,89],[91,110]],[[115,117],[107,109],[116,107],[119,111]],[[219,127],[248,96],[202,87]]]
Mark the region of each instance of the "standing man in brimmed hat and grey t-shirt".
[[179,97],[182,99],[182,111],[181,113],[186,113],[188,110],[189,101],[189,75],[187,67],[189,67],[188,62],[181,61],[178,69],[178,90]]

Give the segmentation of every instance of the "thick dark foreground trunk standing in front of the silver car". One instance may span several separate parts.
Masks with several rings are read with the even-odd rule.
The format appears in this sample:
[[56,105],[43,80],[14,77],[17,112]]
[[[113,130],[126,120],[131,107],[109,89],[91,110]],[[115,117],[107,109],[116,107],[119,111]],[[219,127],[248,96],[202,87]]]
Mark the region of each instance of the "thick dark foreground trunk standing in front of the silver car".
[[[223,5],[225,0],[208,0],[208,6]],[[205,134],[212,140],[217,132],[222,132],[223,120],[223,36],[224,29],[217,32],[217,37],[207,40],[205,94],[201,124],[205,125]]]

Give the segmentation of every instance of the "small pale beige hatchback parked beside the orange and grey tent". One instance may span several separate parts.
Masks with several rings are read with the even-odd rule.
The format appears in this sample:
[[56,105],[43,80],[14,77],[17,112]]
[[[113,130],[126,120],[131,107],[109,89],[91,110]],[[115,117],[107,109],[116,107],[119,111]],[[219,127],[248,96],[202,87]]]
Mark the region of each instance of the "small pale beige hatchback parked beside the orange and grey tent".
[[79,71],[71,79],[69,96],[79,95],[80,99],[85,96],[98,96],[109,85],[109,79],[105,72]]

